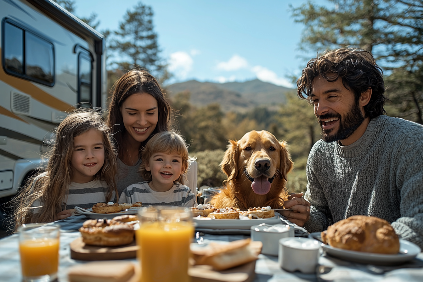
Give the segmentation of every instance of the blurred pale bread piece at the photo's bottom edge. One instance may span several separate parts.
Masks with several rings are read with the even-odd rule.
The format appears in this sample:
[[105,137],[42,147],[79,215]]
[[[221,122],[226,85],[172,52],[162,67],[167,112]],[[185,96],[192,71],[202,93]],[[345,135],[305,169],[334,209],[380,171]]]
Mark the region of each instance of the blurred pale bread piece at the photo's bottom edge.
[[126,282],[135,274],[134,264],[118,260],[79,264],[69,269],[69,282]]

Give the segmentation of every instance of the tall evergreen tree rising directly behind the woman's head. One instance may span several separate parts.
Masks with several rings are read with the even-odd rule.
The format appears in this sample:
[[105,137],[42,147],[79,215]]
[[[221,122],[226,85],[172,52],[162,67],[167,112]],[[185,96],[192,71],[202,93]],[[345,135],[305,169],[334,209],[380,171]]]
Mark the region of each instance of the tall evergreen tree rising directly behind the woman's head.
[[116,62],[121,69],[128,70],[140,66],[163,74],[165,66],[159,57],[153,10],[150,6],[139,2],[132,11],[126,11],[123,22],[114,32],[114,37],[109,48],[117,51],[119,55],[126,55],[128,59]]

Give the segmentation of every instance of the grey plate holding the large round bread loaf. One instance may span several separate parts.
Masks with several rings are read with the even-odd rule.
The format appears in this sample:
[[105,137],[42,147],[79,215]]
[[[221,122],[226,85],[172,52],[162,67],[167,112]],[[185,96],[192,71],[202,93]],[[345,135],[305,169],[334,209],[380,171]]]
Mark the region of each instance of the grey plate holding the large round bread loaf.
[[[308,237],[321,241],[320,232],[310,233]],[[368,263],[377,265],[394,265],[412,260],[420,253],[420,247],[409,241],[399,239],[399,253],[397,255],[374,254],[368,252],[356,252],[321,244],[322,248],[334,257],[343,260],[350,260],[357,263]]]

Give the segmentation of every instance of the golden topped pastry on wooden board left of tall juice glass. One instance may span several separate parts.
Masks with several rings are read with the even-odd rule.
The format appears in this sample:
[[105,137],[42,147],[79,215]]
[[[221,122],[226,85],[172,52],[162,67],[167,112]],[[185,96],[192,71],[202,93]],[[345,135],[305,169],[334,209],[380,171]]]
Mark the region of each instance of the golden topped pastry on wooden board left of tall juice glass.
[[79,229],[82,241],[93,246],[122,246],[134,241],[134,225],[116,220],[89,219]]

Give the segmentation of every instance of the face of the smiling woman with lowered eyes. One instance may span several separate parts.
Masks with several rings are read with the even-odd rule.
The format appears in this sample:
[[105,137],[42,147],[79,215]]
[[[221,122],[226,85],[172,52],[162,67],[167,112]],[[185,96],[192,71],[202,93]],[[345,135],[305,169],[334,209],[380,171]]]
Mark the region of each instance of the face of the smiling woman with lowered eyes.
[[157,100],[147,93],[132,94],[121,108],[128,138],[143,142],[154,131],[159,120]]

